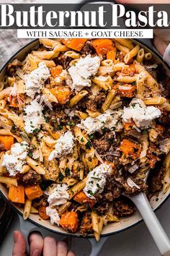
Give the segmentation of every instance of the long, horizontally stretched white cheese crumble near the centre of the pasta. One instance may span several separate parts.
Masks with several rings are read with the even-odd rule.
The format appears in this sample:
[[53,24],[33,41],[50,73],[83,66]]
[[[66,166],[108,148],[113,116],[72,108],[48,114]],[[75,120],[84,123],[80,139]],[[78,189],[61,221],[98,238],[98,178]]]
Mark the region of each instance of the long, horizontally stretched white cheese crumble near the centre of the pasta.
[[108,129],[112,129],[113,127],[120,127],[119,125],[117,126],[117,124],[121,114],[122,111],[107,110],[106,113],[95,118],[89,116],[85,120],[81,119],[81,124],[77,124],[77,126],[81,129],[84,129],[89,135],[91,135],[94,132],[98,132],[103,127]]

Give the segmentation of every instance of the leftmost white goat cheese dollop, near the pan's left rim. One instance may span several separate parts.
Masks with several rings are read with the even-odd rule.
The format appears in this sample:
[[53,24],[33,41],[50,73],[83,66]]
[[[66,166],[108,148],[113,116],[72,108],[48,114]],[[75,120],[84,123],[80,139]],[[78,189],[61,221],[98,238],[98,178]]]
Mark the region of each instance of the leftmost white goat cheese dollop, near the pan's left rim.
[[2,166],[6,167],[9,171],[9,176],[15,176],[17,172],[22,171],[22,166],[27,158],[27,142],[14,143],[10,151],[4,155]]

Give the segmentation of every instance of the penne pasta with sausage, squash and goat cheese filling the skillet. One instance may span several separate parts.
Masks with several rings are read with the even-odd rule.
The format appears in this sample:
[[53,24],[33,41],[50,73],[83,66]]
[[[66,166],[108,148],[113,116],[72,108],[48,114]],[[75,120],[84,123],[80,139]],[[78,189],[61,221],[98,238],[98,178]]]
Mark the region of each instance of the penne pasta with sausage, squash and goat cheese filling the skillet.
[[[0,182],[23,218],[94,234],[170,184],[170,80],[129,39],[40,39],[0,82]],[[144,182],[150,171],[148,182]]]

